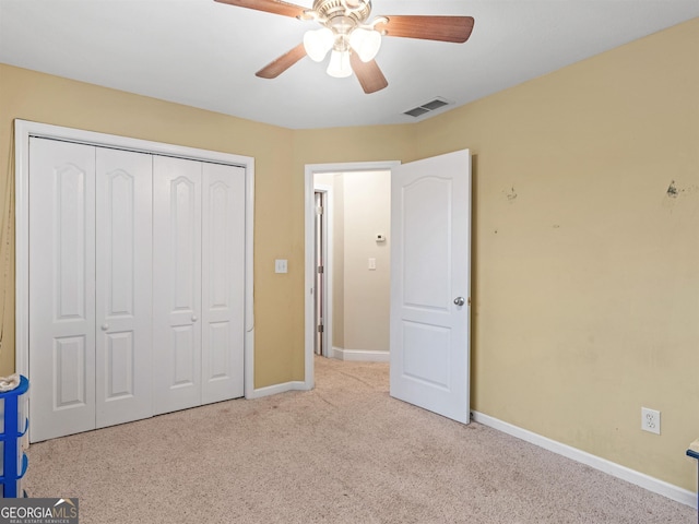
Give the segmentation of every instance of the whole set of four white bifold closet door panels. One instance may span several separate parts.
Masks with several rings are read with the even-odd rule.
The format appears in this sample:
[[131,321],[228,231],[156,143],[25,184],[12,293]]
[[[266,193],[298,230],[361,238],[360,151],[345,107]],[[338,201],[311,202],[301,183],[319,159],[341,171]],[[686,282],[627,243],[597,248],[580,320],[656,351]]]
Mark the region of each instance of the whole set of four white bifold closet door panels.
[[29,140],[33,442],[244,396],[241,167]]

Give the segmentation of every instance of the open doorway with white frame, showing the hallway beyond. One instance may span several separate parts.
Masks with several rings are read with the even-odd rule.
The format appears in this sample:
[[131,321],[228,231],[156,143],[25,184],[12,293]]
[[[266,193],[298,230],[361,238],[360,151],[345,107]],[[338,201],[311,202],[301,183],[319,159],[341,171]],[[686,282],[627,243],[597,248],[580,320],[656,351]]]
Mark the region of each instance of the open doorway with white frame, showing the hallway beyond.
[[313,384],[313,355],[388,361],[390,179],[396,165],[380,162],[306,168],[309,388]]

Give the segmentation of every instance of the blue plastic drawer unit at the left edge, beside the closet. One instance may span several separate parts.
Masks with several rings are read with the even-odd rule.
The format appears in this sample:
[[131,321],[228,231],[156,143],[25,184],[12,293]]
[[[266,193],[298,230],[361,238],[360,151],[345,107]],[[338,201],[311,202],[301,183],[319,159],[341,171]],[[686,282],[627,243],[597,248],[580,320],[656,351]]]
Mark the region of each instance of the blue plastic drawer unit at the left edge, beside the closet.
[[1,496],[5,499],[24,497],[21,480],[27,468],[27,457],[22,451],[22,438],[29,427],[26,418],[26,402],[23,395],[29,389],[29,381],[20,377],[20,385],[0,393],[0,448],[2,456]]

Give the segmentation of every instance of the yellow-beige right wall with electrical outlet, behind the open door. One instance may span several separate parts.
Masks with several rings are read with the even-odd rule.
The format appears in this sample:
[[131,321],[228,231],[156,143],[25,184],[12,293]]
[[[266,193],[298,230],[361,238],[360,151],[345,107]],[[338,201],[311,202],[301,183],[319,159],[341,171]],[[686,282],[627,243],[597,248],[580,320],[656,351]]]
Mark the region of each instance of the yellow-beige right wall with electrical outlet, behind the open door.
[[473,408],[695,490],[699,19],[418,128],[474,155]]

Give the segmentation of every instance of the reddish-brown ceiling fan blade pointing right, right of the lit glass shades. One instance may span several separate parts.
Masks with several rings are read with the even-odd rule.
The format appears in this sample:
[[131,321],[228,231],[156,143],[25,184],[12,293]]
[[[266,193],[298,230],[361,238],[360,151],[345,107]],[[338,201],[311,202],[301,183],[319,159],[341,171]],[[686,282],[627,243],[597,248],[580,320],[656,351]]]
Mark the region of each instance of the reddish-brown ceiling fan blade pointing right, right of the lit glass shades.
[[376,29],[386,36],[423,38],[425,40],[464,43],[473,31],[473,16],[393,15],[384,16]]

